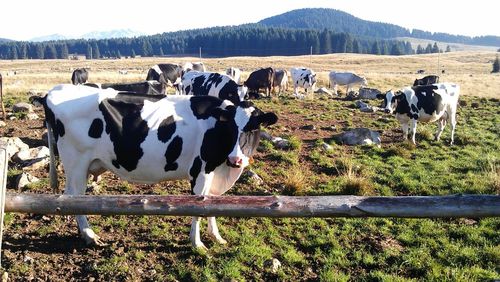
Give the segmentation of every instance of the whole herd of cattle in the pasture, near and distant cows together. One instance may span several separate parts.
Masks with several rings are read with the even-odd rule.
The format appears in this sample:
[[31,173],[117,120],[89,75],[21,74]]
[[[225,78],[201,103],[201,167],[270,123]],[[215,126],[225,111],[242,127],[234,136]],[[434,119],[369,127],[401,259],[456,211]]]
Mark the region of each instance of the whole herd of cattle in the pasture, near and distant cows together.
[[[241,83],[237,68],[219,74],[207,72],[202,63],[158,64],[137,83],[86,83],[88,72],[76,70],[73,84],[87,87],[58,85],[45,97],[33,99],[44,107],[51,154],[57,146],[64,165],[65,194],[84,194],[89,174],[97,177],[110,170],[139,183],[188,179],[193,194],[221,195],[251,162],[260,127],[278,120],[248,99],[261,89],[267,95],[274,87],[286,90],[289,74],[296,95],[298,87],[314,90],[316,74],[307,68],[290,72],[263,68]],[[337,85],[348,89],[367,85],[365,78],[353,73],[331,72],[329,79],[335,90]],[[417,121],[439,121],[436,139],[449,122],[453,143],[460,88],[437,79],[417,80],[415,86],[379,97],[385,111],[396,114],[405,138],[411,126],[413,142]],[[167,87],[188,95],[163,95]],[[57,177],[53,168],[51,183]],[[76,219],[87,243],[101,243],[84,215]],[[208,218],[208,232],[216,241],[226,242],[214,217]],[[193,246],[204,248],[198,217],[192,220],[190,239]]]

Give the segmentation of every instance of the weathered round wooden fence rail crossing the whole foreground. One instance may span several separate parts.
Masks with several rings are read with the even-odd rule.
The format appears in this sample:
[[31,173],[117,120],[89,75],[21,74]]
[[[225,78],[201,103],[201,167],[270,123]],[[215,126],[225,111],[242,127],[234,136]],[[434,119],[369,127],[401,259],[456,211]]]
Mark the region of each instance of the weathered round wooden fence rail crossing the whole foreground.
[[229,217],[498,217],[500,196],[66,196],[10,194],[6,212]]

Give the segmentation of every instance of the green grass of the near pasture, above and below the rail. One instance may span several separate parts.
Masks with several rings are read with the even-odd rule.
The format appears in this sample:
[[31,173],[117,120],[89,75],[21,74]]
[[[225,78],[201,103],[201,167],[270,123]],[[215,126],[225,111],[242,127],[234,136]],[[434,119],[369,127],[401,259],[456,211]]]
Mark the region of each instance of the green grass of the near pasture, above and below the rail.
[[[464,98],[470,101],[473,98]],[[372,102],[376,104],[375,102]],[[402,140],[393,117],[349,109],[351,102],[288,98],[261,100],[263,110],[293,116],[303,125],[335,126],[307,141],[278,124],[272,136],[290,140],[280,150],[262,141],[251,169],[264,179],[252,187],[237,183],[238,195],[449,195],[499,194],[500,112],[498,101],[481,107],[460,107],[456,144],[449,146],[445,128],[433,141],[436,124],[418,124],[417,145]],[[344,129],[367,127],[382,131],[380,148],[343,146],[331,137]],[[292,129],[293,130],[293,129]],[[392,138],[392,139],[391,139]],[[332,146],[325,151],[322,144]],[[9,172],[14,174],[15,171]],[[17,172],[16,172],[17,173]],[[104,185],[105,186],[105,185]],[[170,194],[159,186],[158,194]],[[105,187],[106,188],[106,187]],[[111,188],[110,188],[111,189]],[[129,192],[124,183],[113,188]],[[9,215],[9,232],[22,233],[19,215]],[[202,240],[209,248],[190,247],[187,217],[92,217],[90,223],[111,243],[97,261],[84,260],[81,271],[98,280],[148,281],[493,281],[500,278],[500,219],[397,218],[219,218],[219,245],[209,240],[202,222]],[[57,224],[38,234],[54,234]],[[54,226],[52,226],[54,225]],[[76,232],[76,230],[75,230]],[[77,235],[74,235],[77,236]],[[121,238],[114,241],[114,237]],[[94,250],[82,249],[82,256]],[[50,254],[47,254],[49,256]],[[281,267],[272,272],[273,258]],[[5,267],[23,277],[32,266]],[[153,263],[150,263],[153,262]],[[42,262],[34,262],[34,268]],[[46,266],[44,266],[46,267]],[[52,267],[59,267],[52,265]],[[141,272],[138,272],[140,268]]]

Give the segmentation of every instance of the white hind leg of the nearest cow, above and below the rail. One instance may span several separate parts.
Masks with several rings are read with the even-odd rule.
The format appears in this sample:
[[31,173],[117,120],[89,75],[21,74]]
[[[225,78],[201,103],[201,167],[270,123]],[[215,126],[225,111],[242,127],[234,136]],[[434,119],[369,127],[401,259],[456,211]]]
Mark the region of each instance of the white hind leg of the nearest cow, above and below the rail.
[[[66,187],[64,190],[64,194],[85,194],[85,190],[87,189],[87,172],[89,168],[89,162],[75,157],[69,163],[68,161],[63,161],[63,164],[65,165],[64,170],[66,172]],[[87,217],[85,215],[77,215],[76,222],[78,223],[80,235],[88,245],[104,245],[99,236],[97,236],[90,228]]]

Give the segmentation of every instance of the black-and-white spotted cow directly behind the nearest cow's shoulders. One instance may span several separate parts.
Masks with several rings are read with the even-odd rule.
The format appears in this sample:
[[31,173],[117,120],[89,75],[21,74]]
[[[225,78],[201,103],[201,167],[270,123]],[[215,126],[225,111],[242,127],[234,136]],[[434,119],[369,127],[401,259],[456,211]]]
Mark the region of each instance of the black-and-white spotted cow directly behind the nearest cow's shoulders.
[[247,88],[238,85],[229,76],[216,72],[191,71],[182,77],[183,92],[186,95],[215,96],[238,104],[245,99]]

